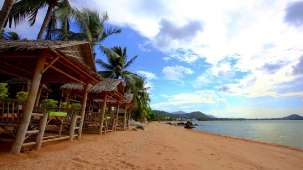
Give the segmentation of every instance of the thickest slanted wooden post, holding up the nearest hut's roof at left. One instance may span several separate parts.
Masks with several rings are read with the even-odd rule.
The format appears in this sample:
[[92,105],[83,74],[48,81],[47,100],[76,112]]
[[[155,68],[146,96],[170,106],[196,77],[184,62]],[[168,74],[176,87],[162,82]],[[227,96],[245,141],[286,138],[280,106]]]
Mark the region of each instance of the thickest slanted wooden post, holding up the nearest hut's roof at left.
[[33,111],[35,99],[37,96],[37,92],[38,92],[41,77],[42,77],[41,71],[44,69],[46,53],[47,53],[47,51],[43,51],[42,54],[38,57],[38,60],[36,63],[36,68],[34,71],[32,84],[30,86],[27,101],[26,101],[26,107],[23,110],[22,120],[19,125],[16,137],[14,139],[14,143],[11,148],[11,153],[15,154],[15,155],[20,154],[20,150],[21,150],[22,144],[25,139],[26,131],[27,131],[27,128],[29,125],[30,117],[31,117],[31,114]]

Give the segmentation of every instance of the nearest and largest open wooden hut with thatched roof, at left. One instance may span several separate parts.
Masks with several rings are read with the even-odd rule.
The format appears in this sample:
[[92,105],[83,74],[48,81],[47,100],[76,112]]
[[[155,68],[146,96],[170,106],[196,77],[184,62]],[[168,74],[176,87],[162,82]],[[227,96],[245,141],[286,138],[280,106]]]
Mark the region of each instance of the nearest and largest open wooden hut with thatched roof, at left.
[[[69,136],[81,138],[82,124],[84,120],[87,91],[89,84],[92,86],[102,81],[97,74],[96,66],[91,53],[89,42],[84,41],[56,41],[56,40],[0,40],[0,74],[20,77],[31,80],[31,86],[26,101],[15,99],[1,99],[2,113],[0,127],[13,139],[2,138],[2,141],[13,141],[11,152],[20,153],[21,147],[34,144],[35,150],[40,150],[41,143],[63,139],[44,138],[45,124],[48,119],[47,112],[37,113],[39,96],[44,82],[77,82],[84,86],[82,108],[79,116],[73,116]],[[38,96],[38,97],[37,97]],[[12,103],[11,112],[5,111]],[[14,104],[24,103],[22,114],[14,112]],[[31,118],[40,116],[37,125],[31,125]],[[21,119],[21,120],[20,120]],[[79,127],[75,128],[75,122],[79,119]],[[74,125],[72,124],[74,123]],[[28,128],[38,126],[36,130]],[[14,131],[10,131],[14,127]],[[16,130],[17,129],[17,130]],[[73,130],[78,131],[74,134]],[[25,142],[25,139],[33,137],[33,142]]]

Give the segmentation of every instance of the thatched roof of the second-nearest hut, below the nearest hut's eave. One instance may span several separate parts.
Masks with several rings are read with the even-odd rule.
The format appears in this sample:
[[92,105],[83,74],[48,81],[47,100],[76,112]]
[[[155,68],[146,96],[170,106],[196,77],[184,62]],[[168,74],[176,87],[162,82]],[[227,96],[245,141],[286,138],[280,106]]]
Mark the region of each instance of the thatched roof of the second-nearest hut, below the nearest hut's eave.
[[[92,85],[89,84],[88,89],[91,89]],[[67,83],[61,86],[62,90],[65,91],[73,91],[75,93],[82,93],[84,87],[80,83]],[[91,98],[101,99],[104,96],[104,92],[115,92],[120,97],[124,96],[123,84],[120,79],[111,79],[111,78],[103,78],[102,82],[94,86],[89,91],[89,96]],[[124,98],[124,97],[123,97]]]

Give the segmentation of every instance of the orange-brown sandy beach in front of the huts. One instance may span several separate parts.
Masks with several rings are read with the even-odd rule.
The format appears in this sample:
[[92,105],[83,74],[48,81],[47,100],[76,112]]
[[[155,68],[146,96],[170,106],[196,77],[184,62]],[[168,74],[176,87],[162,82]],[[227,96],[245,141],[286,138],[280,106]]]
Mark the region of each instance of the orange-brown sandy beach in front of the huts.
[[159,122],[146,126],[102,136],[86,131],[81,141],[44,143],[20,155],[0,142],[0,169],[303,169],[303,151],[294,148]]

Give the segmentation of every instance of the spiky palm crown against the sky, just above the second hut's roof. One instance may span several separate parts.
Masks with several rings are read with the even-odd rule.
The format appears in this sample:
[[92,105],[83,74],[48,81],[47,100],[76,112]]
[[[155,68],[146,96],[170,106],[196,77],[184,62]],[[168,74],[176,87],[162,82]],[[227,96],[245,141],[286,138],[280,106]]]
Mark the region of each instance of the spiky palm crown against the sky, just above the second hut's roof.
[[98,73],[105,78],[115,78],[118,79],[121,77],[123,80],[131,80],[134,77],[137,77],[135,74],[127,71],[126,69],[135,61],[138,55],[132,57],[128,62],[126,55],[126,47],[121,49],[121,47],[115,46],[111,49],[108,49],[104,46],[100,46],[106,56],[108,63],[104,62],[101,59],[97,59],[96,63],[105,71],[98,71]]

